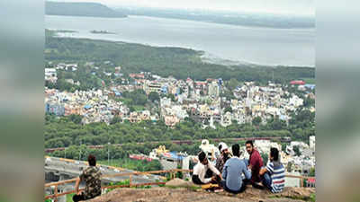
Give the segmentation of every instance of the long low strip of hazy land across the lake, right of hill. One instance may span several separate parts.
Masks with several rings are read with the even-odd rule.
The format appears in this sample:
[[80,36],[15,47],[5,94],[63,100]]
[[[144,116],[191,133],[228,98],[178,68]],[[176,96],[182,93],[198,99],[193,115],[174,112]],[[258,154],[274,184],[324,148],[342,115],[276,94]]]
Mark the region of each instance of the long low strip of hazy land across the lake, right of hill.
[[144,15],[151,17],[173,18],[199,22],[215,22],[221,24],[251,27],[270,27],[276,29],[308,29],[315,27],[315,18],[313,16],[305,15],[285,15],[279,13],[255,13],[241,11],[220,12],[211,10],[182,10],[149,7],[120,7],[114,9],[129,15]]

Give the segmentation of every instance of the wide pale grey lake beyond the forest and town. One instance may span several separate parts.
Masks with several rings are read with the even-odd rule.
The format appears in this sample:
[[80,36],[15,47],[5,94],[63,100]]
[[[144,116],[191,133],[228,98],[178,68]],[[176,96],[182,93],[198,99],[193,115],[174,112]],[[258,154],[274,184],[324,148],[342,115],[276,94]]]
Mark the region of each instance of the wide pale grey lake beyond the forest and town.
[[[315,66],[315,29],[244,27],[212,22],[129,16],[96,18],[46,15],[45,27],[72,30],[65,37],[204,50],[214,57],[268,66]],[[90,31],[116,34],[94,34]]]

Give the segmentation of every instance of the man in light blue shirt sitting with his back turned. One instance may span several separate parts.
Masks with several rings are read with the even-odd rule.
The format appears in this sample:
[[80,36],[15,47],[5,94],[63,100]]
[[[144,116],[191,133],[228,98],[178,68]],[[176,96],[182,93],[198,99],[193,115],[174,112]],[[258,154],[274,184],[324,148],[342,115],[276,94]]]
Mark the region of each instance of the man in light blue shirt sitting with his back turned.
[[[221,184],[226,191],[237,194],[245,190],[246,183],[243,180],[251,179],[251,171],[247,168],[245,162],[239,158],[240,146],[235,144],[231,146],[231,149],[233,157],[225,162]],[[244,174],[245,179],[243,179],[242,174]]]

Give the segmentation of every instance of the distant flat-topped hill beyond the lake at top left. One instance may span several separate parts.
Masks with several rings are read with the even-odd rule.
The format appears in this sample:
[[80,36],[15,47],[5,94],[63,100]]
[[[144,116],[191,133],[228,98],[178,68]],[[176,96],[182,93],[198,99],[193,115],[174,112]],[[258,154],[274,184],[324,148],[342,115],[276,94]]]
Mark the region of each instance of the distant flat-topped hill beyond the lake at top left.
[[45,3],[45,13],[49,15],[68,15],[85,17],[123,18],[126,14],[97,3]]

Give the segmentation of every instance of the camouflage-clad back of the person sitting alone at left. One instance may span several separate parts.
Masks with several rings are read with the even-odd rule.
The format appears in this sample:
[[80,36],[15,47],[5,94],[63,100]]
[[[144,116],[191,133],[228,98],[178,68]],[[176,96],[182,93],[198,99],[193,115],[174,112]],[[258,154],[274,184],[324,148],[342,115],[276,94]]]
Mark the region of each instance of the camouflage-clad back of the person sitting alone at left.
[[101,195],[101,171],[96,166],[87,167],[80,175],[81,180],[85,180],[85,198],[95,198]]

